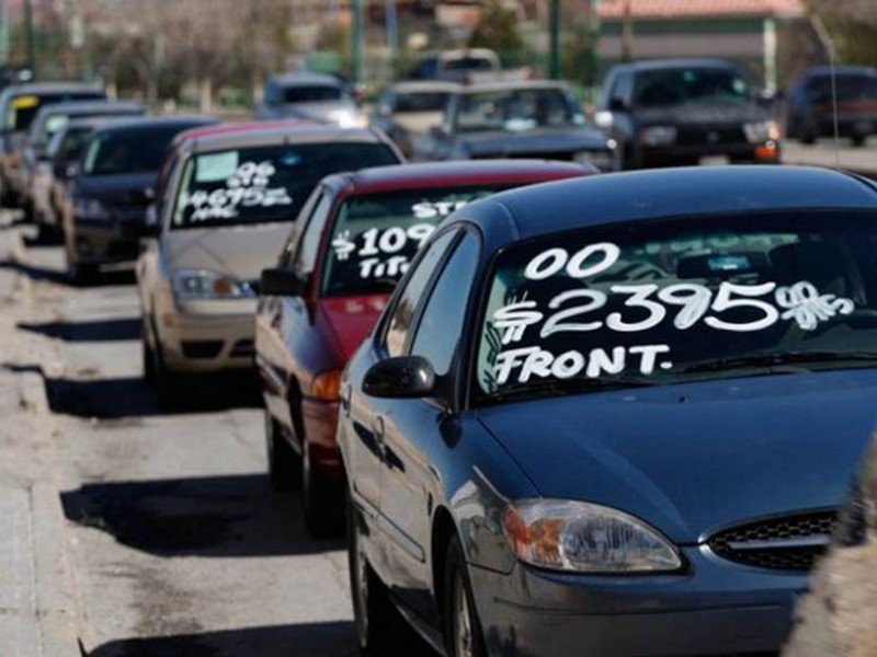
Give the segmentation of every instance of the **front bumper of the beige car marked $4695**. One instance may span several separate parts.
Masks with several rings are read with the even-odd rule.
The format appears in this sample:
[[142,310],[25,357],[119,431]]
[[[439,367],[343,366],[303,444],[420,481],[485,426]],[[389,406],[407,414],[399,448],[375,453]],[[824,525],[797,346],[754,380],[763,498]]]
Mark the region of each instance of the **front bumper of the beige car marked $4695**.
[[166,367],[173,372],[216,372],[253,367],[255,301],[205,301],[156,316]]

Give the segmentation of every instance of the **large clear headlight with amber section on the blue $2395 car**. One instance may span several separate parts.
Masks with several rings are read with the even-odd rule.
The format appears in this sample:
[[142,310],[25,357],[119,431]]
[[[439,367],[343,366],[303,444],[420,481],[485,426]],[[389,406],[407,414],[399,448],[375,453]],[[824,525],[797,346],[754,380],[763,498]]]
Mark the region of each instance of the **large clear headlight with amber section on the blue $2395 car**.
[[503,515],[509,543],[521,561],[578,573],[677,570],[676,549],[640,520],[584,502],[525,499]]

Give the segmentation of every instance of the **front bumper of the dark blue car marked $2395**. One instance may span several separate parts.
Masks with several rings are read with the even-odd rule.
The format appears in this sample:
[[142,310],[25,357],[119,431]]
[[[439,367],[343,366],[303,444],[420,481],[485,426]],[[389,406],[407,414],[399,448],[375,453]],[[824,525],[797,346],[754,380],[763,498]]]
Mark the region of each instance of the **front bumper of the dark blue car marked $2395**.
[[685,551],[681,575],[469,567],[490,655],[749,655],[778,650],[807,576]]

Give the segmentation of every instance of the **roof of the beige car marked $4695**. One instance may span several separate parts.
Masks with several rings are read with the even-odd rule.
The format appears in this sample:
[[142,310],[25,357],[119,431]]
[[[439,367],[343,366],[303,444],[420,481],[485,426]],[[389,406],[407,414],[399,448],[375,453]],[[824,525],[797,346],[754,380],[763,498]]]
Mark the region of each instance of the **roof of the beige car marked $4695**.
[[[217,150],[220,148],[238,148],[242,146],[270,143],[321,143],[326,141],[346,143],[386,143],[387,140],[371,128],[341,128],[308,122],[264,122],[263,130],[244,129],[237,131],[218,131],[203,135],[193,140],[195,152]],[[282,127],[280,124],[283,124]]]

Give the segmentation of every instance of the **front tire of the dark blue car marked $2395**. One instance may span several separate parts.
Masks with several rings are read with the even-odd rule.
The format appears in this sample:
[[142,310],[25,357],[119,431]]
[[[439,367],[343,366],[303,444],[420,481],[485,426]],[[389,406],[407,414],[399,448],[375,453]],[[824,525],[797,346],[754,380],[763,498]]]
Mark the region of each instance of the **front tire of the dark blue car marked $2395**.
[[486,657],[487,646],[475,608],[472,587],[459,538],[454,535],[445,560],[443,629],[447,657]]

